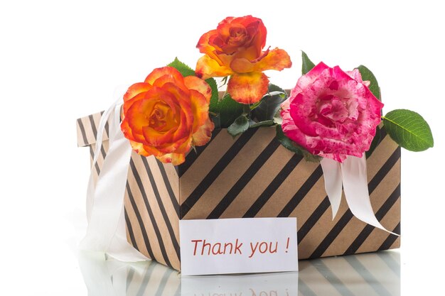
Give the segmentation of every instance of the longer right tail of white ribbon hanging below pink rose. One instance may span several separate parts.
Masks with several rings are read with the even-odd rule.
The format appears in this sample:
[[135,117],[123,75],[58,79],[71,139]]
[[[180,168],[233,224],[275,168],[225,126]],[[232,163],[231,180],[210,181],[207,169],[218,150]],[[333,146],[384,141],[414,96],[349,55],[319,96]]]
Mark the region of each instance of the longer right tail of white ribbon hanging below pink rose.
[[[368,192],[368,177],[365,153],[361,158],[348,156],[341,163],[343,190],[350,211],[361,221],[380,228],[390,234],[395,234],[382,226],[375,217]],[[399,236],[399,234],[395,234]]]

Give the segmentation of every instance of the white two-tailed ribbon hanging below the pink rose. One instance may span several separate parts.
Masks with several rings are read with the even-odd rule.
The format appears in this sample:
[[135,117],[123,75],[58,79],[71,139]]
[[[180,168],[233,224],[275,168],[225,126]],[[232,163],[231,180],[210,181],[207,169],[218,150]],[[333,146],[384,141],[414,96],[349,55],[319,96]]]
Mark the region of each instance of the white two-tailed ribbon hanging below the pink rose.
[[[350,212],[354,216],[390,234],[395,234],[385,229],[372,211],[368,192],[365,153],[361,158],[348,156],[343,163],[328,158],[323,158],[320,163],[323,169],[326,194],[328,194],[329,202],[331,202],[332,219],[334,219],[340,207],[343,184],[346,202],[348,202]],[[395,235],[398,236],[398,234]]]

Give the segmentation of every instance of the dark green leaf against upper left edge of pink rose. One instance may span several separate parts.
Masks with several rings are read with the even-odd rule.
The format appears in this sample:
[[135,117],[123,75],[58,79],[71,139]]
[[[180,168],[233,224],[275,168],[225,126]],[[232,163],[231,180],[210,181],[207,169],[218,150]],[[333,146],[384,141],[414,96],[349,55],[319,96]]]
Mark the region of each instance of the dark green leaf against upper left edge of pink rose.
[[267,94],[264,94],[259,105],[254,110],[254,117],[258,121],[273,120],[274,115],[279,110],[282,102],[287,99],[287,94],[284,89],[277,87],[277,85],[269,84]]

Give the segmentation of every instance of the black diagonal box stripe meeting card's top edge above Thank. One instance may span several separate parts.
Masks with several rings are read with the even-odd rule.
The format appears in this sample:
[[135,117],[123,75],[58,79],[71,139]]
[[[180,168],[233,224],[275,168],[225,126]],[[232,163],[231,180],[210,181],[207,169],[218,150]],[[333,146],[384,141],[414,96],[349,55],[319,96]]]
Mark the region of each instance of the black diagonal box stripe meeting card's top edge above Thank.
[[207,219],[217,219],[219,218],[225,209],[235,200],[235,198],[240,194],[244,187],[252,180],[252,177],[259,171],[259,169],[266,163],[275,150],[279,147],[280,143],[275,138],[267,145],[266,148],[258,155],[258,157],[252,162],[250,167],[245,171],[240,177],[235,185],[230,188],[230,190],[225,194],[223,199],[218,203],[218,205],[213,209],[213,211],[208,215]]

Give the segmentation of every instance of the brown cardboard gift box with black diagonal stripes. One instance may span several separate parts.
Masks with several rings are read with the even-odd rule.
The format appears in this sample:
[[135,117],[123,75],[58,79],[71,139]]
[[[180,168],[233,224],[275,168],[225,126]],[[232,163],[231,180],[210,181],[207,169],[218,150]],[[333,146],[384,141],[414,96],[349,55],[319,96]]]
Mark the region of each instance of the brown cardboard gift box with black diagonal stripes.
[[[92,154],[99,121],[100,114],[77,120],[78,146],[89,146]],[[382,225],[400,233],[400,148],[381,133],[368,159],[370,200]],[[252,128],[235,139],[215,130],[210,143],[176,167],[132,153],[124,198],[129,243],[179,270],[179,219],[295,216],[299,258],[400,246],[397,236],[356,219],[344,200],[332,220],[320,165],[289,152],[274,136],[274,128]],[[107,138],[104,133],[96,173]]]

